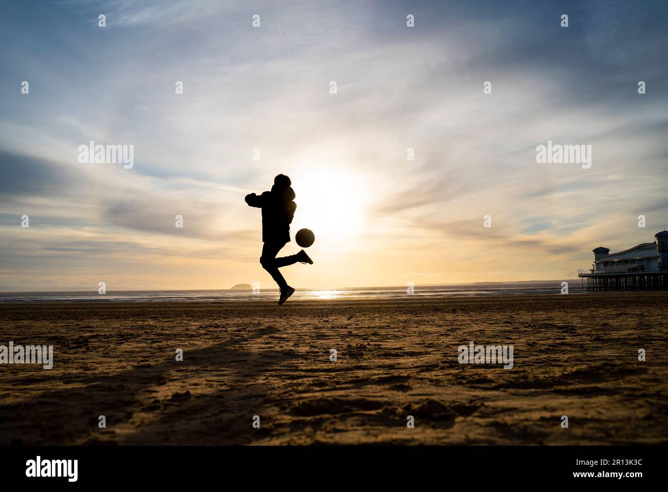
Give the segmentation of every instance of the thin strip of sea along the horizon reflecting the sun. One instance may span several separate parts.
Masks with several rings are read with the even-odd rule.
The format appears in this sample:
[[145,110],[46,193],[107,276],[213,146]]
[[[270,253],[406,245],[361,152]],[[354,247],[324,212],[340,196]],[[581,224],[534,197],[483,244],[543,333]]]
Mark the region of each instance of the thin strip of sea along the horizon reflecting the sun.
[[[568,294],[582,290],[579,279],[523,281],[498,283],[468,283],[451,285],[397,285],[393,287],[346,287],[331,289],[300,289],[293,300],[398,299],[414,297],[473,297],[476,295],[562,295],[562,282],[568,282]],[[220,290],[124,290],[100,294],[98,291],[0,292],[0,302],[54,301],[275,301],[278,289],[220,289]]]

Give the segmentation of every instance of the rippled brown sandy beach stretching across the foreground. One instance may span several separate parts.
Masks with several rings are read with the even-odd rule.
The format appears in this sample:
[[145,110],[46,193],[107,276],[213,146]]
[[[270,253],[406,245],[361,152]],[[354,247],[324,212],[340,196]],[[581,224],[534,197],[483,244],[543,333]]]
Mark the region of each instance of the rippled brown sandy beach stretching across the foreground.
[[[0,365],[0,444],[665,445],[667,301],[5,303],[0,344],[54,362]],[[471,341],[513,368],[460,364]]]

